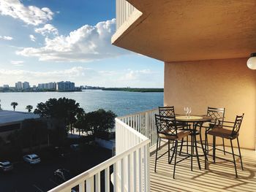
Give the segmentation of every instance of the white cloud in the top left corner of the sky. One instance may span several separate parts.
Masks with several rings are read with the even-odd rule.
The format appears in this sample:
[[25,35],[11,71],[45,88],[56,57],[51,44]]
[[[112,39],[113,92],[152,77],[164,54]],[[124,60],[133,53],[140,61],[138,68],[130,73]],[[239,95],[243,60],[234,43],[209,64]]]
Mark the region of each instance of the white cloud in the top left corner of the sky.
[[48,7],[40,9],[24,6],[20,0],[1,0],[0,14],[23,20],[26,24],[37,26],[53,19],[53,12]]

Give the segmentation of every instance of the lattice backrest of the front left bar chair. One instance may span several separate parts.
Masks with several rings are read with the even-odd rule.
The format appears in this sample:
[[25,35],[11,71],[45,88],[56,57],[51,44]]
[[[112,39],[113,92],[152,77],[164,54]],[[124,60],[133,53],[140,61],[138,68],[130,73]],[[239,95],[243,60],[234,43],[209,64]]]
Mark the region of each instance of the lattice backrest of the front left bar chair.
[[155,115],[157,134],[167,134],[177,137],[177,126],[175,116]]

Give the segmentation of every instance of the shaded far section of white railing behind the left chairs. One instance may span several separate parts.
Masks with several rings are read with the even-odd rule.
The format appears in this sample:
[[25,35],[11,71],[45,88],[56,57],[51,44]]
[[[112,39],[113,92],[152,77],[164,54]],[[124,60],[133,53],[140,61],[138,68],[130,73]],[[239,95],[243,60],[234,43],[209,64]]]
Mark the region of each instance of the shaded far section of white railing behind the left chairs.
[[124,123],[134,128],[144,136],[151,140],[150,147],[157,143],[157,128],[154,115],[158,114],[158,110],[148,110],[144,112],[137,112],[132,115],[120,117]]

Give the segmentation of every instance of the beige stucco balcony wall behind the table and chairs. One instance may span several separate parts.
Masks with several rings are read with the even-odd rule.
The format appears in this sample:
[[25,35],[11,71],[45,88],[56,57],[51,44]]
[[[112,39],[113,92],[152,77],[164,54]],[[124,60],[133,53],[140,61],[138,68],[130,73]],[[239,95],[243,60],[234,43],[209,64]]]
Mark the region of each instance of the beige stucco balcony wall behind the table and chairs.
[[[165,63],[165,105],[206,114],[207,107],[226,107],[225,120],[245,113],[241,147],[255,149],[256,70],[246,58]],[[230,142],[226,142],[229,144]]]

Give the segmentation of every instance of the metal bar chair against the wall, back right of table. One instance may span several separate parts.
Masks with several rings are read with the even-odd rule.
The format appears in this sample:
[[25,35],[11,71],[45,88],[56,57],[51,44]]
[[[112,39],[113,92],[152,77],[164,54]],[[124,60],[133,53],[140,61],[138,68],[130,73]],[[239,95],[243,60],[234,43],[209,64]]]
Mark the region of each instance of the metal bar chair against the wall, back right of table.
[[[206,131],[205,131],[205,148],[206,148],[206,153],[208,153],[209,148],[208,148],[207,131],[209,131],[211,128],[214,128],[214,126],[218,122],[219,122],[218,126],[222,126],[223,120],[225,118],[225,108],[207,107],[206,116],[211,117],[213,119],[211,122],[203,123],[203,126],[201,127],[201,128],[206,128]],[[200,140],[202,140],[201,134],[200,134]],[[222,138],[222,146],[223,146],[224,155],[225,155],[224,138]]]

